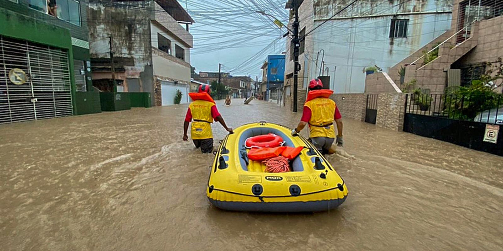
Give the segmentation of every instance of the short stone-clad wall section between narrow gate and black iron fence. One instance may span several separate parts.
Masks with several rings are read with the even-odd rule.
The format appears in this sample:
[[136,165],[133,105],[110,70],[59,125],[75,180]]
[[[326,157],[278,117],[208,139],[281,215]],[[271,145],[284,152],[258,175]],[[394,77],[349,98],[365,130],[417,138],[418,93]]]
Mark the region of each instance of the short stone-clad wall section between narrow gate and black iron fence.
[[403,93],[379,93],[376,126],[393,131],[403,131],[404,105],[405,95]]

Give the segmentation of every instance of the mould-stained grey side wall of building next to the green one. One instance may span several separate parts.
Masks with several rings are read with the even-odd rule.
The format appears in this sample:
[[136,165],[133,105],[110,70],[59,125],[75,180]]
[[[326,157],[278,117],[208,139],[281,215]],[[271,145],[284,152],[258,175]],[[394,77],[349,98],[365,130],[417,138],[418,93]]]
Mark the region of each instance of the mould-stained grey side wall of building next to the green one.
[[[89,4],[89,40],[91,58],[110,58],[109,37],[114,56],[133,59],[134,65],[115,65],[125,69],[127,78],[137,78],[140,90],[153,91],[152,53],[150,43],[151,2],[91,2]],[[152,99],[152,104],[153,104]]]

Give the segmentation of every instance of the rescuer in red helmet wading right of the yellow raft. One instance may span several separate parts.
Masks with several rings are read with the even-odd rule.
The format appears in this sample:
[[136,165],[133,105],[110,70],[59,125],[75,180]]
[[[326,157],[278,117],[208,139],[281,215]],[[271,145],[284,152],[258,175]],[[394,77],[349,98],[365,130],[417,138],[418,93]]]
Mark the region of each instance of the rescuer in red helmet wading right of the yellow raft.
[[338,146],[344,145],[343,140],[343,121],[339,108],[336,102],[328,98],[333,91],[322,90],[323,84],[319,79],[312,79],[309,82],[308,101],[304,104],[302,118],[297,128],[292,130],[292,135],[295,136],[306,124],[309,124],[309,141],[322,154],[331,154],[330,147],[336,138],[333,120],[337,124],[337,140]]

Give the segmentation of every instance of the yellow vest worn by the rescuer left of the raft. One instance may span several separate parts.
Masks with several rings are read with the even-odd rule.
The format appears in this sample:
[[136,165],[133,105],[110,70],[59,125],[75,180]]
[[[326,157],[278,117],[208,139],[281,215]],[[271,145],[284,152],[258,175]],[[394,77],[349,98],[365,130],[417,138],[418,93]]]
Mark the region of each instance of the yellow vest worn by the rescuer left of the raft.
[[213,138],[211,132],[211,107],[215,105],[210,101],[195,100],[190,103],[189,108],[192,113],[191,137],[193,140],[204,140]]

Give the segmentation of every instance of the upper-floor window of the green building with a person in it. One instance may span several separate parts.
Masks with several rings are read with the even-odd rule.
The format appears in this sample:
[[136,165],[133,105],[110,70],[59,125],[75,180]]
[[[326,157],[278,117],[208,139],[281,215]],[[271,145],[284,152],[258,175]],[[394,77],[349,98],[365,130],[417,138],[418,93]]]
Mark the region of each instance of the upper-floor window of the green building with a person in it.
[[80,3],[75,0],[28,0],[31,9],[80,26]]

